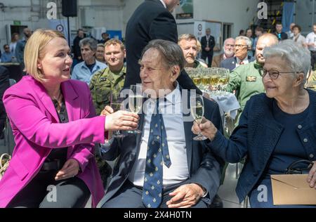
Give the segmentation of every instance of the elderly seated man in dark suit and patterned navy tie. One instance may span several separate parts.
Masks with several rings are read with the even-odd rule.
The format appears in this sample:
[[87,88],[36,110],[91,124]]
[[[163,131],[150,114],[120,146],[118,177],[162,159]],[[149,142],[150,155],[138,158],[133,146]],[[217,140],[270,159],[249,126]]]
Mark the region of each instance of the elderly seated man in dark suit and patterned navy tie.
[[[103,207],[204,208],[211,204],[222,162],[209,152],[211,141],[193,140],[192,91],[176,81],[184,65],[180,46],[171,41],[157,39],[145,47],[140,78],[148,98],[138,124],[143,134],[123,132],[125,138],[116,138],[105,148],[105,159],[119,157],[119,161],[100,202]],[[218,105],[204,99],[204,107],[204,116],[222,131]]]

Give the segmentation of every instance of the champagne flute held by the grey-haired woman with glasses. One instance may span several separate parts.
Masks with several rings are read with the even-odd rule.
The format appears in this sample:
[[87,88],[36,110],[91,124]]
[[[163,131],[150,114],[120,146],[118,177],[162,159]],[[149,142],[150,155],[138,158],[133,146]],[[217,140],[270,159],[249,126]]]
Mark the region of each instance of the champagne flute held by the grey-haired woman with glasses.
[[[190,107],[191,107],[191,115],[193,118],[195,118],[195,122],[197,124],[201,124],[202,118],[204,115],[204,101],[203,96],[201,95],[194,95],[190,96]],[[203,136],[201,132],[195,138],[193,138],[194,141],[204,141],[207,137]]]

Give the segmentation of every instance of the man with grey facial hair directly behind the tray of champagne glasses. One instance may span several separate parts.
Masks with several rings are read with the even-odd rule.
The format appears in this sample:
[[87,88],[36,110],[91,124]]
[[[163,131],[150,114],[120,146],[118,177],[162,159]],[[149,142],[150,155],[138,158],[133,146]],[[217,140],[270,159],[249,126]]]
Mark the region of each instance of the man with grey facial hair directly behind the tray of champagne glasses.
[[205,63],[196,60],[197,53],[201,51],[201,44],[193,34],[181,34],[178,38],[178,45],[182,48],[183,55],[187,63],[185,67],[201,68],[206,67]]

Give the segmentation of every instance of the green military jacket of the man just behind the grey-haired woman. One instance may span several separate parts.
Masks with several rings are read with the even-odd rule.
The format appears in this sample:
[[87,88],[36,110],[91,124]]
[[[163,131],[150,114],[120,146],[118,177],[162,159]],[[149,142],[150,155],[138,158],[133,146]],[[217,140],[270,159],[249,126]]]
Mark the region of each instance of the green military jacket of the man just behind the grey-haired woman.
[[237,91],[236,97],[241,111],[244,110],[244,106],[251,96],[265,92],[260,72],[262,72],[262,66],[254,61],[240,65],[230,73],[226,91],[230,93],[234,90]]

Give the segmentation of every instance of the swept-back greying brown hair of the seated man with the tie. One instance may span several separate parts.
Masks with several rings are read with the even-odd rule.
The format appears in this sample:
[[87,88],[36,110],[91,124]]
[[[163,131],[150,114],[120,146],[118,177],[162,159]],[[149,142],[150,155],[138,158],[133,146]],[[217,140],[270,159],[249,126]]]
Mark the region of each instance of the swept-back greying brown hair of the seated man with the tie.
[[143,58],[144,53],[150,48],[155,48],[159,51],[167,67],[171,68],[174,65],[178,65],[180,67],[180,71],[182,71],[185,67],[183,51],[178,44],[162,39],[152,40],[147,44],[147,46],[145,46],[140,59]]

